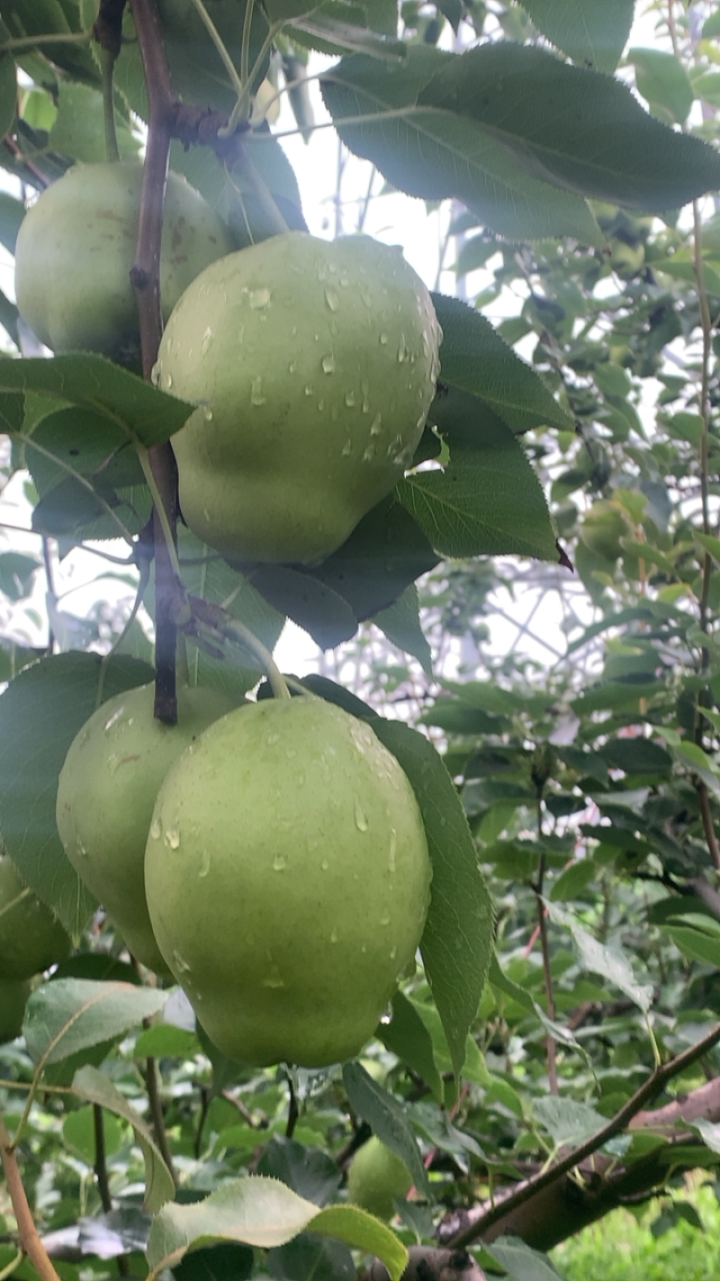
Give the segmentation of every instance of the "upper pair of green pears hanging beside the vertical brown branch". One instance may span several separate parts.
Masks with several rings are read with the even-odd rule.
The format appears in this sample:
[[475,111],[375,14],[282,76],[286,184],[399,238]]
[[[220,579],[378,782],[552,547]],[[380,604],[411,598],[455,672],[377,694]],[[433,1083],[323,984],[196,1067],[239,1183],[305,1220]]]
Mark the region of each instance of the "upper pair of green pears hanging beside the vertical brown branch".
[[[133,163],[78,165],[20,225],[18,306],[56,352],[137,365],[141,177]],[[197,406],[173,438],[182,512],[234,561],[315,564],[412,462],[440,325],[402,252],[367,236],[286,232],[231,249],[217,214],[170,174],[155,378]]]

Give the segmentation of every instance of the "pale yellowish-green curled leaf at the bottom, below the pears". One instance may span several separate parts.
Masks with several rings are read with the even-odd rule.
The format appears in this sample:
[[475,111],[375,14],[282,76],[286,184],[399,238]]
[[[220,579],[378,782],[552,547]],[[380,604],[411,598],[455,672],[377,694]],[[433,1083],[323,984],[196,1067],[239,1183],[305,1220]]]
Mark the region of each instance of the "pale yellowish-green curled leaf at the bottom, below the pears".
[[194,1205],[165,1205],[156,1216],[147,1244],[148,1281],[174,1267],[188,1250],[214,1240],[243,1241],[265,1249],[284,1245],[303,1228],[344,1240],[377,1254],[393,1281],[400,1281],[408,1255],[389,1227],[350,1205],[317,1212],[276,1179],[248,1175],[228,1180]]

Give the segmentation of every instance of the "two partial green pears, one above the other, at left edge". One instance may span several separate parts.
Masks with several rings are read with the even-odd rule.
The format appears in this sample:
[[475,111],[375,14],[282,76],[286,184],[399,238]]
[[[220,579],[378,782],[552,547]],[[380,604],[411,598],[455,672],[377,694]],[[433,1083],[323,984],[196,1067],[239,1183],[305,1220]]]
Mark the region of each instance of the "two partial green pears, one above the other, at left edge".
[[0,1043],[19,1035],[29,980],[69,951],[70,939],[50,908],[0,856]]

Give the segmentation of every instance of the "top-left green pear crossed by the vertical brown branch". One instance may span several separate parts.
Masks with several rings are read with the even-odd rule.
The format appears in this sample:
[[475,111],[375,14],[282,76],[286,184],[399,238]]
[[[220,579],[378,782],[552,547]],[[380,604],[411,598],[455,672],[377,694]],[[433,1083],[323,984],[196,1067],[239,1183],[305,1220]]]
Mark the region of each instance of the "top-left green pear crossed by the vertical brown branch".
[[[83,164],[43,191],[20,223],[15,293],[20,314],[52,351],[98,351],[137,361],[129,279],[142,165]],[[166,319],[198,272],[233,249],[214,209],[176,173],[165,192],[160,295]]]

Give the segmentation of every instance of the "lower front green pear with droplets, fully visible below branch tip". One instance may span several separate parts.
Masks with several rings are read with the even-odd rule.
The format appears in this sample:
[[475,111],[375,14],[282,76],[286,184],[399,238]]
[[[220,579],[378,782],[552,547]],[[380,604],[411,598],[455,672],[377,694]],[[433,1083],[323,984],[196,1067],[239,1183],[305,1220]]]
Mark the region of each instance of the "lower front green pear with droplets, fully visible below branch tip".
[[217,1048],[320,1067],[372,1036],[418,947],[431,866],[395,757],[364,721],[299,697],[230,712],[168,771],[145,880],[160,951]]

